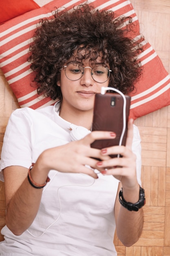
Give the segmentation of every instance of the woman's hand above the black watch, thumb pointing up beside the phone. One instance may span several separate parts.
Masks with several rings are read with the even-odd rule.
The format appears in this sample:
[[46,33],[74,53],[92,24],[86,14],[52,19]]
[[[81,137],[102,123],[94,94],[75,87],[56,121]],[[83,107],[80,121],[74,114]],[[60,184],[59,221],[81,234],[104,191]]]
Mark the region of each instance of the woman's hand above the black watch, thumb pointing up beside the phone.
[[137,186],[136,175],[136,155],[132,153],[133,139],[133,119],[128,121],[128,133],[126,146],[113,146],[101,150],[103,156],[111,154],[120,154],[122,157],[115,157],[97,163],[97,166],[103,168],[101,171],[104,175],[113,175],[121,181],[121,184],[126,189],[131,189]]

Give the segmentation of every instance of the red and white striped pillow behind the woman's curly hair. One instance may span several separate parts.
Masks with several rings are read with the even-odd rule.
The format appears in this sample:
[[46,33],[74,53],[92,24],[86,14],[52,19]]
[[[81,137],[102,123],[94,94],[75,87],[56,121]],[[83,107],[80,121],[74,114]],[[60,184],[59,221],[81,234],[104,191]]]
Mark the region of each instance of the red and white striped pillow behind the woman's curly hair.
[[[53,0],[0,26],[0,67],[20,107],[35,109],[54,103],[50,98],[38,96],[35,84],[32,82],[34,73],[29,70],[30,63],[26,61],[36,23],[40,18],[51,18],[54,7],[64,6],[71,9],[82,2],[84,0]],[[139,22],[129,0],[91,0],[91,2],[99,9],[115,11],[117,16],[131,16],[136,25],[135,36],[139,36]],[[144,72],[137,84],[137,92],[131,93],[130,117],[133,119],[170,105],[170,75],[146,41],[144,41],[144,52],[139,58]]]

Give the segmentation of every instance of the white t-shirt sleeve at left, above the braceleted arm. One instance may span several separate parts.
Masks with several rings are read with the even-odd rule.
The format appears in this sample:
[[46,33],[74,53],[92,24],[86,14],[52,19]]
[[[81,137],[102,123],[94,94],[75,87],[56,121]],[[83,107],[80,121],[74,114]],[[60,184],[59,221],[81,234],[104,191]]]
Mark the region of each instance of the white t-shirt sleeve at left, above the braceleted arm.
[[0,160],[0,180],[3,181],[2,170],[8,166],[29,168],[32,162],[31,120],[27,111],[17,109],[9,118],[4,134]]

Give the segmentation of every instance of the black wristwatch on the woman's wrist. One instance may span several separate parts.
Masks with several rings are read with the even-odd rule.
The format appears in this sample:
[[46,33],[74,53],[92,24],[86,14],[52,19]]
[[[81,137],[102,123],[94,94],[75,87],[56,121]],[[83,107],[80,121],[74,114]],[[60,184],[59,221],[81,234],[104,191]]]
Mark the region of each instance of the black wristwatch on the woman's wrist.
[[123,197],[123,190],[121,188],[121,191],[119,192],[119,202],[123,207],[128,209],[129,211],[138,211],[141,207],[145,204],[145,191],[140,187],[139,191],[139,201],[135,204],[132,204],[130,202],[126,202]]

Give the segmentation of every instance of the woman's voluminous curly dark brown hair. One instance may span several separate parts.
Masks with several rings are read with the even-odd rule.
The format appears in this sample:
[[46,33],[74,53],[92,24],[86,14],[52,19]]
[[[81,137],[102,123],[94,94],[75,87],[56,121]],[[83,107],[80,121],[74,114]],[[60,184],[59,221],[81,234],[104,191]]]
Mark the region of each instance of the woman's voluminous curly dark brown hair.
[[133,26],[130,17],[115,18],[113,11],[95,10],[88,4],[81,4],[72,11],[56,9],[51,20],[40,21],[30,46],[28,61],[36,72],[34,81],[38,94],[43,93],[53,100],[62,99],[57,86],[60,70],[75,53],[76,58],[90,59],[91,63],[102,55],[103,64],[108,63],[112,70],[109,86],[124,94],[134,90],[141,75],[137,56],[142,51],[144,38],[128,37]]

